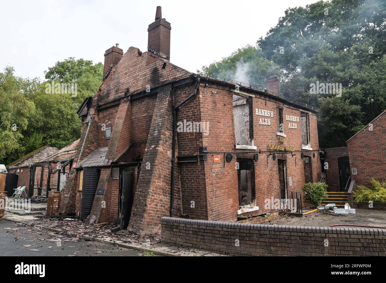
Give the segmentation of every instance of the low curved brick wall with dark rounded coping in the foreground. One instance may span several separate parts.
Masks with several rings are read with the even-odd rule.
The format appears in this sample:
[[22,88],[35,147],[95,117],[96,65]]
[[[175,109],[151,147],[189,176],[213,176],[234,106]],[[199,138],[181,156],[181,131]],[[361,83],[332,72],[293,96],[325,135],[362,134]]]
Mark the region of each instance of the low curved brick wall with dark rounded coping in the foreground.
[[373,228],[243,224],[163,217],[161,239],[166,243],[230,255],[386,256],[386,229]]

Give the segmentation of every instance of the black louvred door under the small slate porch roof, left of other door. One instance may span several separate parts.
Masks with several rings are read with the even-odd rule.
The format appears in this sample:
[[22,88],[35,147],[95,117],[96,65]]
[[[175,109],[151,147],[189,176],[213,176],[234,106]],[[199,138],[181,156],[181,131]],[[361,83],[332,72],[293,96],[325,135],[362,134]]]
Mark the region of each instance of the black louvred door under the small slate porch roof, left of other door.
[[81,219],[86,219],[91,212],[94,196],[97,191],[99,174],[100,171],[97,168],[83,169]]

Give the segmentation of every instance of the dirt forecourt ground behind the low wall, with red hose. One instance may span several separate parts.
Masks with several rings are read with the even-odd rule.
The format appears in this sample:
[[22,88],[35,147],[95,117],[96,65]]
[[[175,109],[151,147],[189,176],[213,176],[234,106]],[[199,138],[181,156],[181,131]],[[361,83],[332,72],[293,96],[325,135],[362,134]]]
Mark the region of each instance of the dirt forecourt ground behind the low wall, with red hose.
[[357,224],[383,226],[386,229],[386,211],[374,209],[356,209],[356,214],[341,214],[339,216],[314,212],[300,217],[282,217],[271,220],[273,225],[298,225],[298,226],[323,226],[330,227],[332,224]]

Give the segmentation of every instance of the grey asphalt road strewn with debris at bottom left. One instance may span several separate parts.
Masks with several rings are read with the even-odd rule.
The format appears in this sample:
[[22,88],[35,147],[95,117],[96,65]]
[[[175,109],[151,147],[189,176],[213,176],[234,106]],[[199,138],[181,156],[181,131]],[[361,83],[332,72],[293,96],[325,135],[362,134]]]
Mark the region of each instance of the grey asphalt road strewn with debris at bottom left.
[[137,250],[90,241],[73,241],[66,237],[59,238],[59,243],[58,236],[51,231],[21,227],[0,220],[1,256],[144,256]]

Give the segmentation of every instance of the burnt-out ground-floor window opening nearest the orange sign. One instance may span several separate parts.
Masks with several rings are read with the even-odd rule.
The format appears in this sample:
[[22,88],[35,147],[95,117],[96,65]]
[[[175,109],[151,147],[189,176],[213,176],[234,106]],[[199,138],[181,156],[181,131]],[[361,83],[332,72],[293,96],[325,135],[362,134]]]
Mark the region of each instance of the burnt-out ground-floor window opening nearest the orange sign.
[[255,204],[255,174],[254,162],[252,159],[237,158],[239,169],[237,170],[237,178],[239,184],[239,207],[254,206]]

